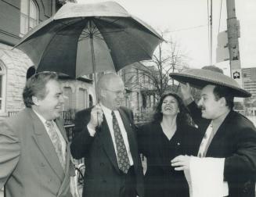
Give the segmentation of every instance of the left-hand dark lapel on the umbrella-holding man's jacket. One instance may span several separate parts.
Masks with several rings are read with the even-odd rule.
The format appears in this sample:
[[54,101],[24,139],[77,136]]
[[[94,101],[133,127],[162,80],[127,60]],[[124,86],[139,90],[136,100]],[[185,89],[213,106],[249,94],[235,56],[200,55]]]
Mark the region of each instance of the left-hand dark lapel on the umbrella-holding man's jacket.
[[108,124],[106,123],[106,117],[103,117],[103,124],[99,128],[99,138],[103,143],[103,147],[106,151],[106,155],[109,156],[111,163],[113,163],[114,168],[119,172],[118,164],[117,164],[117,156],[114,150],[114,143],[110,134],[110,129]]

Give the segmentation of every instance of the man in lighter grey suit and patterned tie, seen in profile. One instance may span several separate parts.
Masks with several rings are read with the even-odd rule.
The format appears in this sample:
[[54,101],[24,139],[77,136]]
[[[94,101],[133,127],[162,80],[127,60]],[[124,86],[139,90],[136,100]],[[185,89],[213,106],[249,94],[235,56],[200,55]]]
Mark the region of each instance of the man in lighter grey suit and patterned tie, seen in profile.
[[0,188],[5,185],[6,197],[71,197],[74,168],[56,73],[32,76],[23,101],[26,108],[0,124]]

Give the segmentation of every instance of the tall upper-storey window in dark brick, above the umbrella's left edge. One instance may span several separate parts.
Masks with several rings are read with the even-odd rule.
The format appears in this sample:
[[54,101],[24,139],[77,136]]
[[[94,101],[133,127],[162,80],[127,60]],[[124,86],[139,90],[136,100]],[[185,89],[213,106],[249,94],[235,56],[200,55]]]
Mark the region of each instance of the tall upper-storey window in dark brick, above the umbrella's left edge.
[[20,1],[20,36],[38,25],[38,6],[33,0]]

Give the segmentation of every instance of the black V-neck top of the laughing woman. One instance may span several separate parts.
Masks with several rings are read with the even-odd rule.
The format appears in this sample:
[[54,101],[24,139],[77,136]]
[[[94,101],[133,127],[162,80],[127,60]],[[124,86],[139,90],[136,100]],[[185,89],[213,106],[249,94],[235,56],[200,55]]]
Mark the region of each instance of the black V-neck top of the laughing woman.
[[183,171],[171,167],[171,159],[179,155],[197,155],[200,133],[195,127],[177,125],[168,141],[159,123],[139,127],[139,151],[146,156],[145,196],[189,197],[189,185]]

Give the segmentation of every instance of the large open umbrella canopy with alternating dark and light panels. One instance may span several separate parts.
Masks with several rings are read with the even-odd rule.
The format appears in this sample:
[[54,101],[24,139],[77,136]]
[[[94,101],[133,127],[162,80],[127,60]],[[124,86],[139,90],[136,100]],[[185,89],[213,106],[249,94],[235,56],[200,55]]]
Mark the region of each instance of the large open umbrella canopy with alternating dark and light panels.
[[151,59],[160,41],[152,27],[116,2],[67,3],[15,47],[27,53],[38,72],[77,78]]

